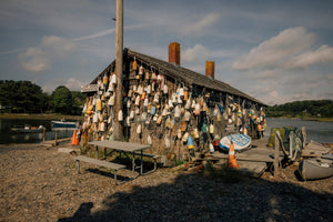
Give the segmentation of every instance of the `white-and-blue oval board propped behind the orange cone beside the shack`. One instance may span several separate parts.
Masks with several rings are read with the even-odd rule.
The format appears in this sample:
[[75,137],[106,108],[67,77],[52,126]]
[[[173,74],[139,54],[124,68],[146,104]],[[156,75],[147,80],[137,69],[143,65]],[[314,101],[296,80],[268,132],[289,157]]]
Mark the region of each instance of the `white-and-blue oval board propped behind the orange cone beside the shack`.
[[[230,138],[231,135],[226,135],[222,138],[219,142],[219,147],[223,150],[229,151],[230,148]],[[243,150],[251,144],[251,138],[244,134],[232,134],[232,142],[235,151]]]

